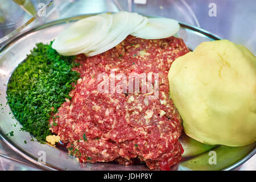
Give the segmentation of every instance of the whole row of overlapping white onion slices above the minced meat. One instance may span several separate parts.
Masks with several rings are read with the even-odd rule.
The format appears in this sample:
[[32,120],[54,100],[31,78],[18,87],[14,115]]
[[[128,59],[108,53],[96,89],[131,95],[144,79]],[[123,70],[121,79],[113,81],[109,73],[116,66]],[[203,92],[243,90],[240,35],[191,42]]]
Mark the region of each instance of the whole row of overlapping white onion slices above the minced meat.
[[64,56],[94,56],[117,46],[130,34],[142,39],[163,39],[175,35],[179,27],[174,19],[146,18],[126,11],[104,13],[74,23],[61,32],[52,48]]

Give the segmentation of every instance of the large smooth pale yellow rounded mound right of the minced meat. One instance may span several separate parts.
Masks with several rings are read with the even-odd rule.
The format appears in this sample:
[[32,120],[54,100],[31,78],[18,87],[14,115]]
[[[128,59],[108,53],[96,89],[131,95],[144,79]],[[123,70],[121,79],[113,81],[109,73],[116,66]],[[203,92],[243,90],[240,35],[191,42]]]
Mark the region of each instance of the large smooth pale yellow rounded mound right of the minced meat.
[[201,43],[168,73],[185,133],[206,144],[256,140],[256,57],[229,40]]

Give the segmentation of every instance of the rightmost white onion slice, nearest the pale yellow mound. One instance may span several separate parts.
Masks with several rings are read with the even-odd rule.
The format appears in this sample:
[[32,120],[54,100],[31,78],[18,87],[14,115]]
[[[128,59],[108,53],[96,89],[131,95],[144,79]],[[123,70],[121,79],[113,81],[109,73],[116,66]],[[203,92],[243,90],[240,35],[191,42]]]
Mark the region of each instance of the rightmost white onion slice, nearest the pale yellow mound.
[[142,39],[164,39],[179,31],[179,22],[169,18],[148,18],[148,23],[131,35]]

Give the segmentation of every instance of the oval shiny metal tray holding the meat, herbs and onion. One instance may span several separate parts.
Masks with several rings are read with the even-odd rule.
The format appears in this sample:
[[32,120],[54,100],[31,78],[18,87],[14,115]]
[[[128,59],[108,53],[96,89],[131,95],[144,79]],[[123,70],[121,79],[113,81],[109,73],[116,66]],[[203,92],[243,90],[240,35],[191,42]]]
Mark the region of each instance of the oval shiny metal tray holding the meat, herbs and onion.
[[[70,26],[76,20],[85,18],[90,15],[75,16],[72,18],[56,20],[43,24],[20,34],[10,40],[0,49],[0,138],[15,152],[30,160],[32,163],[49,170],[148,170],[146,166],[122,166],[114,163],[79,163],[73,156],[67,155],[65,150],[60,150],[49,146],[31,141],[30,134],[20,131],[22,127],[19,122],[13,118],[9,105],[6,105],[7,82],[14,69],[26,59],[26,55],[35,47],[36,43],[49,43],[65,28]],[[218,40],[216,35],[212,35],[197,27],[180,23],[178,35],[183,38],[187,47],[195,49],[201,42]],[[2,109],[3,108],[3,109]],[[16,126],[15,126],[16,125]],[[10,131],[14,131],[13,137],[6,136]],[[27,143],[24,143],[26,140]],[[181,138],[181,143],[189,147],[185,136]],[[220,151],[217,154],[217,163],[210,165],[208,163],[209,148],[205,151],[199,151],[196,156],[183,158],[180,164],[172,167],[172,170],[217,170],[233,169],[240,166],[256,152],[255,143],[245,147],[225,147],[216,146],[214,151]],[[213,150],[212,149],[212,150]],[[42,159],[46,159],[46,162]]]

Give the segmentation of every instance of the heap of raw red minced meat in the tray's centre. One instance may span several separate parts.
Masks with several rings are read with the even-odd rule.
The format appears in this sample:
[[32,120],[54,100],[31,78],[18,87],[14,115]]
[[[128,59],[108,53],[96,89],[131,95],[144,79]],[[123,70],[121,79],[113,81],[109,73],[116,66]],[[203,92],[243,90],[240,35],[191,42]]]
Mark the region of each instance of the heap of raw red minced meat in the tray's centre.
[[[96,55],[77,55],[81,74],[75,89],[51,119],[51,131],[67,143],[69,154],[80,162],[110,162],[130,165],[134,160],[146,162],[150,169],[170,169],[181,160],[183,148],[179,143],[182,125],[179,113],[169,97],[168,71],[171,63],[189,52],[182,39],[145,40],[128,36],[118,46]],[[101,93],[98,85],[105,73],[109,80],[115,73],[158,73],[156,99],[153,92]],[[155,76],[154,76],[155,77]],[[153,80],[154,80],[153,77]],[[110,88],[109,83],[109,88]]]

